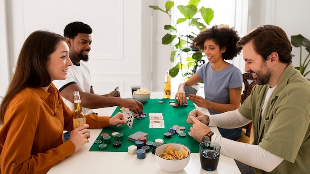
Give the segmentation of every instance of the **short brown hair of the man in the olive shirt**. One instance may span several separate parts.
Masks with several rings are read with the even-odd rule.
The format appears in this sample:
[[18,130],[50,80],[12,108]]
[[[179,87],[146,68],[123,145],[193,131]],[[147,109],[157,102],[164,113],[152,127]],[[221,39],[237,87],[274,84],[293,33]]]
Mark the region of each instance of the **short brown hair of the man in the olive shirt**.
[[242,48],[250,41],[253,41],[254,50],[264,60],[267,60],[272,52],[277,52],[280,62],[292,63],[292,45],[282,28],[275,25],[259,26],[244,36],[237,46]]

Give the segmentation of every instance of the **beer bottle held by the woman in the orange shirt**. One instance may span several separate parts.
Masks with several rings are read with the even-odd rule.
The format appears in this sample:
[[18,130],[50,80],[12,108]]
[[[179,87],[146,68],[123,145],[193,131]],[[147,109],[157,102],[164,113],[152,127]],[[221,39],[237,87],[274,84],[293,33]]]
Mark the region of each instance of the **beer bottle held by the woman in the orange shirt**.
[[[73,129],[86,124],[86,118],[82,111],[82,104],[80,98],[80,91],[74,91],[74,116],[73,116]],[[85,137],[87,139],[87,137]]]

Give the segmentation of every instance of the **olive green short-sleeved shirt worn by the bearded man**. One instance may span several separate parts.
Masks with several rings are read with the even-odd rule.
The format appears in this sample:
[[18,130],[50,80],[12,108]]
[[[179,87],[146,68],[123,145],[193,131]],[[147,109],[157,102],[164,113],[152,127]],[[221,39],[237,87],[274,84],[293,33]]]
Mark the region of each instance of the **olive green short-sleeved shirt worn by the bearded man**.
[[255,86],[238,109],[253,121],[253,144],[284,159],[270,174],[310,174],[310,82],[288,65],[261,116],[267,90]]

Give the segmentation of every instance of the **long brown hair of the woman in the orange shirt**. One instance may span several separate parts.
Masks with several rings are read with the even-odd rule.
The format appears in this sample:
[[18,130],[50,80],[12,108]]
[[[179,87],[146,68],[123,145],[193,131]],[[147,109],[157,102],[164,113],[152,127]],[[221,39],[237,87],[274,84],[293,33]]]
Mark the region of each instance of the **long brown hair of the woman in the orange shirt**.
[[15,72],[0,105],[0,124],[4,124],[5,110],[17,92],[25,87],[48,87],[52,80],[47,70],[50,55],[64,37],[49,31],[35,31],[24,42]]

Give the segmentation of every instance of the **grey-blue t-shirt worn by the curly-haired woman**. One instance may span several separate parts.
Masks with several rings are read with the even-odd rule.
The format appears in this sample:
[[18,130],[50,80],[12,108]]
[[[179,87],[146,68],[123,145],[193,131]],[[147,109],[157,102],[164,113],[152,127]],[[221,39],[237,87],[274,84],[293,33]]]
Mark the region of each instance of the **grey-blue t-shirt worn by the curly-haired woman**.
[[[205,99],[208,101],[229,104],[229,89],[242,87],[242,73],[233,64],[227,68],[214,71],[211,67],[212,63],[208,62],[197,70],[197,75],[204,79]],[[218,114],[220,112],[208,109],[210,114]]]

